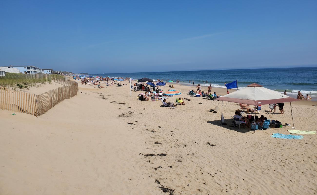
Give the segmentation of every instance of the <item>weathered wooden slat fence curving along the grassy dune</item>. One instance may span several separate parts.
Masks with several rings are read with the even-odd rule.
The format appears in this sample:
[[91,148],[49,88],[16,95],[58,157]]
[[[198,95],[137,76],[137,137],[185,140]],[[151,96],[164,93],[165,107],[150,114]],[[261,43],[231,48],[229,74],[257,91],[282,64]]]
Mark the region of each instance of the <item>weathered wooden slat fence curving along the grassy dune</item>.
[[71,80],[52,80],[52,82],[57,82],[63,87],[39,95],[0,88],[0,109],[39,116],[59,102],[77,95],[77,82]]

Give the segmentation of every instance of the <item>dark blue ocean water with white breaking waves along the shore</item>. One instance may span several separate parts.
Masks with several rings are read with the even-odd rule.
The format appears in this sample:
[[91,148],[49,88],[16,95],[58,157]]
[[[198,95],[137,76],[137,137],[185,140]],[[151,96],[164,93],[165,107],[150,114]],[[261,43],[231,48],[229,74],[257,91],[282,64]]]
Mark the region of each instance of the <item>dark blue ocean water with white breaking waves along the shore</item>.
[[[238,88],[244,88],[251,83],[258,83],[281,93],[284,90],[294,97],[300,90],[303,94],[310,94],[314,101],[317,98],[317,67],[303,68],[262,68],[262,69],[239,69],[239,70],[199,70],[199,71],[174,71],[174,72],[142,72],[142,73],[112,73],[93,74],[99,76],[131,77],[139,79],[180,80],[181,84],[195,85],[200,83],[204,86],[226,88],[224,82],[238,81]],[[189,83],[191,80],[191,84]],[[205,81],[205,83],[204,83]],[[208,81],[206,83],[206,81]]]

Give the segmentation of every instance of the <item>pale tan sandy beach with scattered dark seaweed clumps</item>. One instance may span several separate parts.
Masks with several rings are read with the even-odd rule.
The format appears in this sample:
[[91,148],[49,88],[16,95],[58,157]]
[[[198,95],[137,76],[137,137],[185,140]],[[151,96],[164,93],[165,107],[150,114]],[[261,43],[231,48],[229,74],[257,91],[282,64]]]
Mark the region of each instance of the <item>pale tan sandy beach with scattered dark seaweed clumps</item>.
[[[221,101],[189,97],[192,87],[174,86],[182,92],[174,101],[191,99],[177,109],[139,101],[139,92],[130,98],[129,85],[79,83],[77,96],[37,118],[0,110],[0,194],[316,193],[316,135],[283,140],[270,135],[289,134],[290,127],[220,126]],[[300,104],[313,103],[292,103],[296,130],[315,131],[317,107]],[[209,112],[216,106],[217,114]],[[225,122],[236,109],[223,102]],[[262,110],[292,124],[289,103],[285,114],[268,113],[268,105]],[[143,155],[160,153],[166,156]]]

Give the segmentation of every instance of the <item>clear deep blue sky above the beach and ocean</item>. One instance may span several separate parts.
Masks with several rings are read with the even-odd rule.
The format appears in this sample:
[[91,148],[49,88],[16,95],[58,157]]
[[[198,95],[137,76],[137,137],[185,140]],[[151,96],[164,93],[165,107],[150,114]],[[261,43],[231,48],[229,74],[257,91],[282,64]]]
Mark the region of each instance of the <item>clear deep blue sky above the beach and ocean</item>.
[[0,66],[76,73],[316,66],[317,1],[0,1]]

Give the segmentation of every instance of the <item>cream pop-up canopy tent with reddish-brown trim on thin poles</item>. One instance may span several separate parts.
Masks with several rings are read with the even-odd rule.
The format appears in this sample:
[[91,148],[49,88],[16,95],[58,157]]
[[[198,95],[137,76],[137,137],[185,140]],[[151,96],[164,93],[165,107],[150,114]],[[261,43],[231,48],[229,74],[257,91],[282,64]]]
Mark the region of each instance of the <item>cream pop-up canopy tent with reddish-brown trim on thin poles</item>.
[[[275,103],[298,101],[297,99],[291,98],[277,91],[264,88],[262,85],[259,85],[257,83],[252,83],[248,85],[246,88],[224,95],[220,98],[217,98],[216,100],[254,105],[254,108],[255,106],[264,105],[264,104],[275,104]],[[292,104],[291,104],[291,114],[292,114],[292,120],[293,120]],[[222,115],[222,104],[221,104],[221,115]],[[294,120],[293,120],[293,126],[294,126]]]

